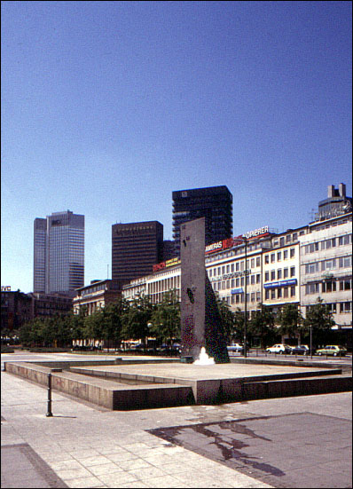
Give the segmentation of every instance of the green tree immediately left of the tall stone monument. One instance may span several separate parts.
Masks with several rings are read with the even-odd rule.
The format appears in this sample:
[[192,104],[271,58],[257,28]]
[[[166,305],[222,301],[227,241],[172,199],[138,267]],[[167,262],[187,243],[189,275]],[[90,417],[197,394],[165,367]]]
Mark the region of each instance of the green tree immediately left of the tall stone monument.
[[169,342],[171,348],[174,339],[180,337],[180,304],[175,289],[163,294],[161,303],[152,313],[151,322],[150,334],[162,343]]

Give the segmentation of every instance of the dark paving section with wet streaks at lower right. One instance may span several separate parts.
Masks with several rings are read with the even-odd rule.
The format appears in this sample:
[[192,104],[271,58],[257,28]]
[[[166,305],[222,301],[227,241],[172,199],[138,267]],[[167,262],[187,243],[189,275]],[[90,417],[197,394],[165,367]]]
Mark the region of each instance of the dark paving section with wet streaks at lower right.
[[274,487],[342,488],[352,481],[351,430],[347,419],[304,412],[149,432]]

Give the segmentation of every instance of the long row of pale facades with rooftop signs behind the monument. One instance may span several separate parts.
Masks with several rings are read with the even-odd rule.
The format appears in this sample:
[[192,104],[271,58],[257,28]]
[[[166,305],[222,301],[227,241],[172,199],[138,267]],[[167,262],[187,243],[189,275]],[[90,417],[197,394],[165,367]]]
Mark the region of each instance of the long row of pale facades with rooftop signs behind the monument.
[[[247,250],[238,238],[205,249],[208,278],[231,311],[247,309],[247,317],[251,318],[259,304],[271,307],[273,312],[295,304],[305,317],[308,308],[321,297],[333,312],[336,328],[351,329],[351,214],[286,233],[257,233],[247,239]],[[153,274],[132,280],[122,288],[122,295],[132,300],[137,294],[145,294],[158,304],[173,288],[180,296],[177,258],[169,264],[155,265]]]

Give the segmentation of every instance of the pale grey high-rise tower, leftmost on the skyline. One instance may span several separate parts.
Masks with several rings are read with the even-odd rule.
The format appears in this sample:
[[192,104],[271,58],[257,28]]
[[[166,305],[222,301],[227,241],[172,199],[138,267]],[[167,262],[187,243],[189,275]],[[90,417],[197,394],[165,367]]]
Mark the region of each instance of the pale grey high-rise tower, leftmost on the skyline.
[[84,285],[84,216],[70,210],[35,218],[34,292],[67,293]]

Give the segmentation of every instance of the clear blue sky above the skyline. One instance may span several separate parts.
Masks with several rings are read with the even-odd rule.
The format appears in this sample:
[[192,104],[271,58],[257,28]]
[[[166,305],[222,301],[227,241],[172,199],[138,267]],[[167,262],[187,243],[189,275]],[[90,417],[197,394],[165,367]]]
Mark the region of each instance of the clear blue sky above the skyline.
[[7,2],[2,285],[33,289],[33,221],[84,214],[85,283],[116,222],[227,185],[233,234],[351,187],[350,2]]

